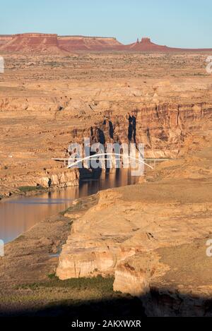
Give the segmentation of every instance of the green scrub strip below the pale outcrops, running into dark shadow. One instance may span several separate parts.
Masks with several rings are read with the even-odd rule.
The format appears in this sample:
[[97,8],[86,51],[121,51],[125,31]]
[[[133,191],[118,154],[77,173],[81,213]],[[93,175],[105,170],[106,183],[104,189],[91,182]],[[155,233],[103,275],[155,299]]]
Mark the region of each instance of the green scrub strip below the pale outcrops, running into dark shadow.
[[[113,291],[114,277],[95,277],[59,280],[49,275],[45,283],[26,284],[16,287],[18,301],[27,308],[29,316],[70,316],[76,318],[117,318],[119,316],[144,316],[143,306],[139,299],[129,294]],[[17,303],[17,297],[10,297],[11,303]],[[7,298],[8,300],[8,298]],[[16,313],[14,314],[16,316]]]

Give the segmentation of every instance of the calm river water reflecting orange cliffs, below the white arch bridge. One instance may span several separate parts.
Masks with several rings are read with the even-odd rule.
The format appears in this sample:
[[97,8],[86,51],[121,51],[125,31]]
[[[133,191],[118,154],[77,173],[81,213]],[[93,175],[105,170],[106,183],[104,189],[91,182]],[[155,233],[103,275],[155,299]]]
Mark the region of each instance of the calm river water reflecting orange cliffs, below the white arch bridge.
[[27,231],[37,222],[66,210],[72,200],[92,195],[107,188],[134,184],[138,177],[124,169],[103,172],[100,179],[81,183],[61,191],[43,193],[37,197],[16,198],[0,203],[0,239],[5,243]]

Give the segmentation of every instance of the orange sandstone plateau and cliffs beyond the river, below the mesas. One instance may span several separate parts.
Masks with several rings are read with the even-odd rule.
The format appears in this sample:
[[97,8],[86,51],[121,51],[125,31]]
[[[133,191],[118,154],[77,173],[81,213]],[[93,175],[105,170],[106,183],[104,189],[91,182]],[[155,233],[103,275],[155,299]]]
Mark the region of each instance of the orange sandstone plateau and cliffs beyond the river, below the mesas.
[[107,142],[127,142],[128,112],[136,114],[136,143],[145,143],[146,157],[177,157],[201,122],[211,119],[204,61],[204,54],[6,56],[0,195],[22,186],[23,178],[31,185],[39,183],[37,174],[64,172],[52,158],[67,157],[69,143],[81,143],[91,127]]

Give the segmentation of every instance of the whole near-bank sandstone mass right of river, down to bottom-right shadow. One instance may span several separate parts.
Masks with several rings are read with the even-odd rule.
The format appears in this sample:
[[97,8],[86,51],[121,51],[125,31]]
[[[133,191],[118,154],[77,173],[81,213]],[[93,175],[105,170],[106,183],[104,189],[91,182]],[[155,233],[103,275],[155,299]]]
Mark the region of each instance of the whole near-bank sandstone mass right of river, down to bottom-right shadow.
[[202,134],[186,161],[161,164],[156,179],[99,193],[82,217],[67,214],[75,220],[57,275],[114,275],[114,290],[138,296],[147,315],[211,315],[211,130]]

